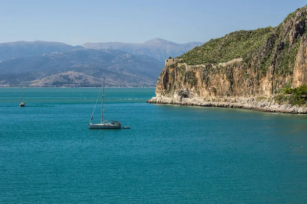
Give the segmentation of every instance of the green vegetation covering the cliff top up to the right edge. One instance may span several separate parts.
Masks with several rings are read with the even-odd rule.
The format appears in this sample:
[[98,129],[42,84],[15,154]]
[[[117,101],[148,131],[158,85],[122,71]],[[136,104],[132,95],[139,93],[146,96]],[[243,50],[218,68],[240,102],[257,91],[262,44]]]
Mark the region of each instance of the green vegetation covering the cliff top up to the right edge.
[[290,13],[277,27],[251,31],[235,31],[221,38],[211,39],[191,49],[179,58],[188,65],[218,64],[243,58],[246,67],[265,74],[275,66],[279,75],[291,74],[301,41],[306,33],[307,6]]

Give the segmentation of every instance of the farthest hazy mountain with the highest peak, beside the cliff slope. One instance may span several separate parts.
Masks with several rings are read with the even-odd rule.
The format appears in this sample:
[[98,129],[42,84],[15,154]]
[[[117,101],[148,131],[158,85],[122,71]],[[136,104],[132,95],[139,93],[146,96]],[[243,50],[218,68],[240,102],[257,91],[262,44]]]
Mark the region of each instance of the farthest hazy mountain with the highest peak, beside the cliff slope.
[[178,44],[175,42],[154,38],[144,43],[124,43],[124,42],[99,42],[84,43],[81,46],[91,49],[120,49],[135,55],[147,55],[160,62],[164,62],[168,57],[177,57],[188,52],[188,50],[200,46],[201,42],[188,42]]

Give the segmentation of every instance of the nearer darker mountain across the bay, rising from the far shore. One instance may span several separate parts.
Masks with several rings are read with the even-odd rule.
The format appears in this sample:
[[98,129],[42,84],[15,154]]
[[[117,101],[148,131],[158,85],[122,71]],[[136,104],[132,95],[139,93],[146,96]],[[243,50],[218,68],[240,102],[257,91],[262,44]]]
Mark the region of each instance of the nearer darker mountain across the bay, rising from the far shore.
[[[163,64],[156,59],[129,54],[122,50],[69,49],[64,52],[0,62],[0,84],[21,82],[34,83],[37,86],[62,85],[67,84],[66,82],[75,84],[80,82],[78,81],[80,76],[74,80],[75,76],[70,75],[78,72],[81,73],[81,78],[88,78],[80,82],[82,86],[95,86],[103,77],[108,79],[106,85],[110,86],[155,86],[162,68]],[[59,73],[61,76],[51,77]],[[63,76],[66,81],[59,80],[59,77]]]

